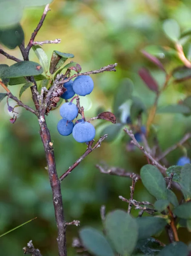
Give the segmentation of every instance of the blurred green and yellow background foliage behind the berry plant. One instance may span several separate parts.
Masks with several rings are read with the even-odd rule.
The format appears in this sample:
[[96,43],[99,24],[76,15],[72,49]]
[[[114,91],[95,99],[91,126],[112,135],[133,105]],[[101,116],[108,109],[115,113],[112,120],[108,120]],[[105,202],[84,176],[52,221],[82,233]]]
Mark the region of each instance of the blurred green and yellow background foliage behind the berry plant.
[[[86,118],[97,115],[98,108],[112,111],[114,96],[124,78],[134,83],[134,95],[140,96],[149,108],[153,105],[155,94],[145,87],[138,76],[140,67],[148,67],[162,87],[165,76],[162,71],[151,64],[140,53],[141,49],[150,52],[158,51],[158,57],[166,70],[181,65],[177,55],[170,48],[164,52],[157,46],[174,48],[166,38],[162,23],[165,19],[177,20],[181,31],[190,29],[190,0],[54,0],[51,4],[43,27],[36,41],[60,38],[60,44],[46,44],[43,49],[49,59],[53,50],[74,54],[74,61],[82,67],[82,72],[98,69],[107,64],[118,63],[117,72],[105,72],[92,75],[94,91],[81,100]],[[26,9],[21,21],[28,42],[31,32],[37,26],[43,13],[43,7]],[[188,41],[187,48],[191,41]],[[3,49],[17,58],[22,58],[18,47],[14,50]],[[158,50],[157,50],[158,49]],[[38,61],[34,52],[30,60]],[[13,61],[0,55],[1,64],[14,64]],[[162,93],[159,106],[176,104],[191,94],[189,82],[170,83]],[[10,87],[18,96],[21,85]],[[0,88],[0,92],[4,92]],[[23,102],[33,106],[30,90],[23,93]],[[128,112],[128,105],[126,106]],[[43,151],[39,136],[36,116],[22,109],[20,117],[12,125],[6,110],[6,100],[1,102],[0,111],[0,234],[37,217],[36,220],[0,238],[0,254],[20,256],[22,248],[32,239],[35,247],[46,256],[57,255],[57,227],[54,220],[54,208]],[[73,140],[70,135],[62,137],[57,132],[60,120],[59,109],[51,111],[47,117],[48,127],[54,143],[58,175],[62,175],[69,166],[86,150]],[[144,116],[146,122],[146,116]],[[94,121],[97,127],[96,139],[103,127],[108,125],[103,120]],[[162,149],[178,142],[186,131],[190,130],[191,117],[181,114],[158,114],[154,119],[158,139]],[[127,171],[139,173],[146,164],[146,159],[137,149],[126,151],[127,136],[123,130],[112,143],[103,143],[101,148],[92,152],[82,163],[66,177],[62,183],[63,204],[67,221],[78,219],[81,227],[92,225],[100,228],[100,207],[105,204],[107,210],[122,208],[128,205],[118,199],[119,195],[129,197],[131,180],[128,178],[100,174],[95,168],[97,163],[108,166],[119,166]],[[188,156],[191,151],[188,146]],[[171,165],[176,164],[182,155],[177,149],[168,155]],[[136,200],[153,201],[141,182],[136,184]],[[180,196],[180,195],[179,195]],[[136,215],[136,211],[132,211]],[[77,227],[67,228],[68,255],[76,255],[71,241],[77,236]],[[188,242],[191,238],[188,231],[180,229],[180,239]],[[163,242],[168,242],[165,234]]]

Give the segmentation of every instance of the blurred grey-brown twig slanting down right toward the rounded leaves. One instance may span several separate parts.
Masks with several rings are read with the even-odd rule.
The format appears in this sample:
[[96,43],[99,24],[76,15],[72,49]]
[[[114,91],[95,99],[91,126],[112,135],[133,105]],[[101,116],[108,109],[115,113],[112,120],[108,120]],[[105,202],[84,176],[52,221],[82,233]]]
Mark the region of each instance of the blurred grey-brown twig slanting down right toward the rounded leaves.
[[124,129],[124,131],[131,137],[131,143],[133,143],[134,145],[136,145],[141,151],[143,151],[143,153],[152,161],[152,164],[157,166],[161,172],[165,175],[166,174],[166,167],[162,166],[160,163],[157,162],[157,160],[155,160],[151,154],[149,154],[147,151],[145,151],[144,147],[141,146],[137,140],[134,137],[134,134],[132,131],[129,131],[127,128]]

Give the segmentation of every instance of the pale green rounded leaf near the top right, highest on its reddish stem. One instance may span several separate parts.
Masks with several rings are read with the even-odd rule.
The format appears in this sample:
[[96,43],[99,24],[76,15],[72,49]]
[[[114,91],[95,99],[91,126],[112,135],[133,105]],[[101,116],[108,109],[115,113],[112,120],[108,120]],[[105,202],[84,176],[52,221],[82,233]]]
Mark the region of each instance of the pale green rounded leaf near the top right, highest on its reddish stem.
[[180,26],[176,20],[165,20],[162,27],[168,38],[170,38],[172,41],[178,41],[178,38],[180,37]]

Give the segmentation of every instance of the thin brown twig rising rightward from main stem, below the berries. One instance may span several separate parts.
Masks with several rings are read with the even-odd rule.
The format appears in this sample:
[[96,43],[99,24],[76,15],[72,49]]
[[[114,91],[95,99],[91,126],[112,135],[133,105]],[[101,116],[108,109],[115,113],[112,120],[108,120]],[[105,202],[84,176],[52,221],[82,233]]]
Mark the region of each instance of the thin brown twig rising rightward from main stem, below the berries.
[[[101,143],[103,142],[103,140],[105,140],[108,137],[108,134],[103,135],[102,137],[100,137],[100,139],[97,141],[97,143],[93,146],[93,148],[91,147],[90,142],[88,145],[88,148],[86,149],[86,152],[75,162],[73,163],[73,165],[63,174],[60,176],[60,182],[63,181],[63,179],[65,179],[72,170],[74,170],[74,168],[76,168],[81,162],[82,160],[88,156],[88,154],[90,154],[92,151],[94,151],[94,149],[99,148],[101,146]],[[92,143],[91,143],[92,144]]]

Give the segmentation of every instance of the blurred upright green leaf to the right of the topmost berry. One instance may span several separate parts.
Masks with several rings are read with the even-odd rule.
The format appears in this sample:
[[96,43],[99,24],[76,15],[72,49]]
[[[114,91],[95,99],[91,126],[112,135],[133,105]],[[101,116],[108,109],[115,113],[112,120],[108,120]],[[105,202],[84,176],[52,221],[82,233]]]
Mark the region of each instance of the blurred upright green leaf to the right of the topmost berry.
[[119,107],[128,99],[131,99],[132,93],[134,90],[133,82],[126,78],[123,79],[120,83],[119,87],[117,88],[117,92],[114,98],[114,106],[113,106],[113,113],[116,116],[119,116],[120,111]]

